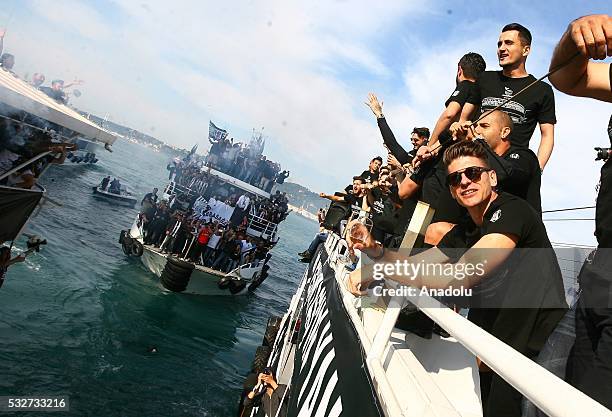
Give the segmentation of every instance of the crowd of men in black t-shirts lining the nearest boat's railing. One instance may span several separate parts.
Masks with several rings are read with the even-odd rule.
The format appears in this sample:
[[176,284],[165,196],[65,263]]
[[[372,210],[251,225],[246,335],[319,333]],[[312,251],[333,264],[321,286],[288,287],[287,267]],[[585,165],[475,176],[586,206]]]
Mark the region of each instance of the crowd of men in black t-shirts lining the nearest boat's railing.
[[[604,20],[606,28],[612,27],[609,16]],[[587,27],[592,22],[595,21],[587,20],[581,25]],[[603,37],[604,31],[594,33]],[[609,38],[608,35],[608,46]],[[572,42],[567,34],[564,39]],[[429,129],[415,128],[410,151],[397,142],[383,114],[382,103],[370,94],[367,104],[376,116],[383,144],[389,152],[387,162],[384,164],[381,157],[376,157],[367,170],[355,173],[352,184],[344,190],[333,195],[320,194],[332,201],[321,223],[323,230],[299,255],[303,261],[310,261],[332,231],[346,238],[351,253],[359,249],[363,256],[388,263],[413,259],[415,263],[425,260],[444,265],[467,262],[466,259],[473,259],[471,257],[476,254],[484,256],[478,248],[529,249],[517,252],[520,255],[516,257],[505,258],[497,269],[490,266],[484,278],[472,277],[459,284],[474,287],[476,294],[487,294],[470,300],[471,303],[486,301],[493,294],[500,303],[494,308],[469,305],[471,321],[523,355],[544,361],[542,358],[551,354],[543,351],[547,338],[557,340],[557,324],[571,319],[566,314],[568,307],[558,261],[541,217],[541,174],[552,153],[556,117],[551,86],[536,82],[525,69],[531,41],[531,33],[520,24],[509,24],[502,29],[497,48],[502,71],[485,71],[485,61],[479,54],[465,54],[457,65],[456,88],[444,103],[444,111],[431,134]],[[605,44],[604,41],[602,45],[605,47]],[[605,54],[599,58],[602,57]],[[604,68],[601,72],[604,89],[610,88],[603,82],[607,70]],[[530,87],[523,94],[516,94],[528,85]],[[609,91],[607,94],[609,97]],[[496,108],[500,104],[501,108]],[[538,125],[541,139],[536,154],[529,149],[529,142]],[[396,250],[401,246],[418,201],[428,203],[435,214],[425,233],[422,252],[418,255],[413,252],[408,257]],[[351,214],[357,211],[361,218],[350,220]],[[601,243],[601,230],[598,233]],[[451,255],[451,249],[458,249],[453,252],[458,254]],[[486,263],[487,258],[474,259],[484,259]],[[520,261],[516,262],[517,259]],[[356,263],[347,267],[354,269]],[[355,295],[364,295],[365,289],[371,288],[368,286],[374,282],[372,266],[363,268],[351,273],[347,281],[349,290]],[[449,284],[444,278],[419,276],[408,279],[397,273],[387,275],[387,279],[421,288],[457,285],[457,280]],[[517,308],[516,304],[510,305],[510,299],[522,300],[525,304],[519,302],[523,307]],[[525,300],[534,302],[527,304]],[[466,306],[458,304],[456,307]],[[419,314],[421,316],[415,316],[420,317],[418,320],[405,320],[400,315],[396,325],[431,337],[434,323]],[[602,386],[609,386],[609,369],[612,368],[606,368],[603,363],[598,367],[593,359],[595,362],[589,362],[585,369],[581,362],[584,358],[596,357],[597,349],[595,353],[591,351],[596,345],[592,343],[606,337],[608,346],[612,342],[605,331],[599,332],[599,336],[586,333],[588,326],[602,320],[608,320],[609,329],[609,312],[606,317],[591,316],[588,320],[583,319],[582,324],[576,322],[577,339],[567,369],[564,360],[540,363],[610,407],[610,397],[603,394],[609,389]],[[443,331],[439,333],[444,334]],[[579,336],[584,340],[579,341]],[[555,354],[565,354],[567,359],[571,345],[559,345],[558,341],[550,343],[557,343]],[[548,349],[552,345],[546,346]],[[605,359],[608,365],[611,360]],[[536,412],[535,407],[528,401],[522,403],[521,395],[499,375],[485,365],[480,368],[485,416],[535,415],[529,414]],[[583,379],[585,373],[598,381],[597,387]],[[522,407],[530,411],[522,414]]]

